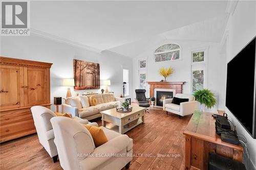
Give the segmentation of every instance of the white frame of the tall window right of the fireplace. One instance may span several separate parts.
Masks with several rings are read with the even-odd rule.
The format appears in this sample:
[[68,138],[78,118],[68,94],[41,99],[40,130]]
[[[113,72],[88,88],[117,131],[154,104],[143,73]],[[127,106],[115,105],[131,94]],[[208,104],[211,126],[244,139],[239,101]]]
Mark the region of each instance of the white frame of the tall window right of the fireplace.
[[[190,63],[191,63],[191,93],[193,93],[193,71],[195,70],[203,70],[204,71],[204,85],[203,88],[207,88],[208,87],[208,48],[207,47],[201,47],[201,48],[197,48],[196,50],[191,50],[190,52]],[[197,53],[197,52],[204,52],[204,61],[200,61],[200,62],[193,62],[193,53]]]

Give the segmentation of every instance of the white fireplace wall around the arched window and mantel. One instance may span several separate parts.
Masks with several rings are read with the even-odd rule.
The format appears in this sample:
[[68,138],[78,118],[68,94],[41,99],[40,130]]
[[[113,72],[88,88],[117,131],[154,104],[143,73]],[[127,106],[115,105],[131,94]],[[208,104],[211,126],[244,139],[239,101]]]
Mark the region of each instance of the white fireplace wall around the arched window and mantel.
[[[181,60],[177,61],[164,61],[164,62],[155,62],[154,52],[161,45],[168,43],[176,43],[181,47]],[[158,70],[160,67],[169,67],[172,66],[174,73],[167,78],[167,81],[186,82],[183,85],[183,93],[191,94],[191,52],[196,50],[208,49],[208,81],[207,88],[212,90],[218,99],[219,96],[219,68],[220,68],[220,54],[219,54],[219,43],[214,42],[199,42],[199,41],[184,41],[184,40],[162,40],[157,45],[148,48],[142,54],[133,59],[133,98],[135,98],[135,89],[139,88],[139,78],[138,78],[138,69],[139,69],[139,60],[147,60],[147,81],[160,81],[163,79]],[[217,112],[218,105],[215,108],[212,108],[212,112]]]

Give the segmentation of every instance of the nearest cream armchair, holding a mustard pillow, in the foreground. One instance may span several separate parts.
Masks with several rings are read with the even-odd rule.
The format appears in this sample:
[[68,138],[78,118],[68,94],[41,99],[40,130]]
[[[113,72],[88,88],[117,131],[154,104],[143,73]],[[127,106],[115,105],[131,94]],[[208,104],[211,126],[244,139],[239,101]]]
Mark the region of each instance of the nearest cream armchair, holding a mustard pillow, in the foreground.
[[[108,142],[95,148],[87,128],[67,117],[51,119],[60,166],[63,169],[112,169],[129,168],[133,154],[133,139],[101,127]],[[69,126],[67,126],[69,125]]]

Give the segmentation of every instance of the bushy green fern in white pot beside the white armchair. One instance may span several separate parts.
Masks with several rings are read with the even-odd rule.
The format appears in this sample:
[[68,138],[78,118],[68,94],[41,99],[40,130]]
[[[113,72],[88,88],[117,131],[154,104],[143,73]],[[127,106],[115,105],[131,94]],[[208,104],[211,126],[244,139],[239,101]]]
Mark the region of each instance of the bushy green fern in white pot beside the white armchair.
[[201,103],[201,111],[204,111],[203,105],[205,105],[208,109],[214,107],[216,105],[216,99],[214,98],[214,93],[212,93],[208,89],[197,90],[194,93],[196,101]]

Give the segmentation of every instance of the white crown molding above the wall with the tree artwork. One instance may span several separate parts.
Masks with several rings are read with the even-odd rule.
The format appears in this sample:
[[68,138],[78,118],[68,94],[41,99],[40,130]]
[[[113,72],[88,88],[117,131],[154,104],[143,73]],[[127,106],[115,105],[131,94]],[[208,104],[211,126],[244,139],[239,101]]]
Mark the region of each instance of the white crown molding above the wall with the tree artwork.
[[55,35],[52,35],[52,34],[49,34],[49,33],[45,33],[45,32],[42,32],[42,31],[39,31],[39,30],[36,30],[36,29],[31,28],[30,29],[30,34],[38,36],[38,37],[46,38],[46,39],[49,39],[49,40],[65,43],[65,44],[68,44],[68,45],[72,45],[72,46],[75,46],[75,47],[84,48],[84,49],[89,50],[91,52],[101,53],[101,50],[93,48],[91,46],[84,45],[82,43],[72,41],[72,40],[69,40],[69,39],[66,39],[66,38],[58,37],[58,36],[55,36]]

